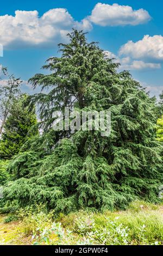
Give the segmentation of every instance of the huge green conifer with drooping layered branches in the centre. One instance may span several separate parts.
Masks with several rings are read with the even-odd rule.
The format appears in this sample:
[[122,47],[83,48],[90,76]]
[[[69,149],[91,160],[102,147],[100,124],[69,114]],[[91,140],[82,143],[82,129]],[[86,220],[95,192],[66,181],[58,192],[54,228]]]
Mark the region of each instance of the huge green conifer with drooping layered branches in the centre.
[[[159,202],[162,183],[162,144],[156,141],[155,100],[128,71],[108,59],[85,33],[68,34],[61,57],[48,59],[30,79],[47,93],[29,98],[37,103],[43,131],[27,141],[10,161],[13,180],[5,200],[20,205],[44,202],[56,212],[78,209],[126,208],[136,198]],[[111,135],[100,131],[52,130],[54,111],[65,106],[78,111],[111,111]]]

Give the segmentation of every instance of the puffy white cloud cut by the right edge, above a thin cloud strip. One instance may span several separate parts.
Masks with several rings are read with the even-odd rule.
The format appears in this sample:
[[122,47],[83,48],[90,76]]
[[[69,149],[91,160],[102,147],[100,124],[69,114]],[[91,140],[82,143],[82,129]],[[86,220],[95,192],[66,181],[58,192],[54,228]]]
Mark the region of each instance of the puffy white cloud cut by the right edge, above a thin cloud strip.
[[120,55],[131,56],[136,59],[163,60],[163,36],[145,35],[140,41],[128,41],[120,48]]

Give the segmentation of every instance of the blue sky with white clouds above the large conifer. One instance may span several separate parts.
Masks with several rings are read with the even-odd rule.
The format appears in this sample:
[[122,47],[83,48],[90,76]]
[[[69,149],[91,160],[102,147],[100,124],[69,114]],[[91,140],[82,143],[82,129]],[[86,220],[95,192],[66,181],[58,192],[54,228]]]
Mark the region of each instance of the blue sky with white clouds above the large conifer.
[[[163,54],[159,55],[163,47],[162,11],[160,0],[3,1],[0,44],[4,56],[0,64],[27,81],[40,72],[48,57],[58,54],[57,44],[66,40],[67,31],[77,27],[89,31],[90,41],[99,41],[109,56],[120,60],[122,68],[151,90],[151,95],[158,95],[163,89]],[[26,90],[31,92],[29,87]]]

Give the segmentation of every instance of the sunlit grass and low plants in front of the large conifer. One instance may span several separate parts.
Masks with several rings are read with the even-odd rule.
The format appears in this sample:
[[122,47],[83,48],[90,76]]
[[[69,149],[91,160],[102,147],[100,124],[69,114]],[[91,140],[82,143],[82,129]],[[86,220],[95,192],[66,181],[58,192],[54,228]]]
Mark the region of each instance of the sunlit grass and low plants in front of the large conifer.
[[137,201],[126,211],[57,218],[38,208],[21,210],[18,217],[0,216],[1,245],[163,245],[162,205]]

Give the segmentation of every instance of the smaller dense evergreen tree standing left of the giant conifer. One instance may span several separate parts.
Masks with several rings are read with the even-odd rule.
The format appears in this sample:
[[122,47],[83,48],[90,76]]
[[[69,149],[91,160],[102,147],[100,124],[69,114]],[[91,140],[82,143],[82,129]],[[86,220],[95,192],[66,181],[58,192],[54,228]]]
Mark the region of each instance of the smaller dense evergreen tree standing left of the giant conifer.
[[29,112],[27,107],[24,108],[26,98],[26,95],[22,95],[10,106],[10,115],[5,121],[0,141],[1,159],[11,159],[18,154],[24,142],[33,135],[30,130],[36,124],[36,115],[34,109]]

